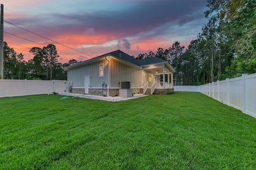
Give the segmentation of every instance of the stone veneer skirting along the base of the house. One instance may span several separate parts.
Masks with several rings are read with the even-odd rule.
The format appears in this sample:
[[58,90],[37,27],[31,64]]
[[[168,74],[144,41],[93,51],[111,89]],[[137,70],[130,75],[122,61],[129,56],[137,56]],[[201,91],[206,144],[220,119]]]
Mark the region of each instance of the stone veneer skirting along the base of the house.
[[[132,89],[133,94],[143,94],[143,89],[141,88],[136,88],[136,89]],[[73,88],[71,90],[71,93],[73,94],[83,94],[84,93],[84,88]],[[103,95],[107,95],[107,89],[89,89],[89,95],[96,95],[96,96],[103,96]],[[109,95],[111,97],[114,96],[119,96],[119,89],[109,89]]]

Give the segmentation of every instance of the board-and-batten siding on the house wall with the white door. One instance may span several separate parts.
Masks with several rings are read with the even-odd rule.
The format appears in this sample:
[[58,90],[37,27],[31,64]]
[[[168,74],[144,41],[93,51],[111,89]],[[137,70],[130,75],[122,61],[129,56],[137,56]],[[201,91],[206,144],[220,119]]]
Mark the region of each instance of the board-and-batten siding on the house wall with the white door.
[[[99,77],[99,65],[103,63],[103,77]],[[90,87],[102,88],[102,82],[108,83],[108,61],[102,59],[89,65],[84,65],[68,70],[68,82],[73,83],[73,88],[84,88],[84,77],[90,75]]]

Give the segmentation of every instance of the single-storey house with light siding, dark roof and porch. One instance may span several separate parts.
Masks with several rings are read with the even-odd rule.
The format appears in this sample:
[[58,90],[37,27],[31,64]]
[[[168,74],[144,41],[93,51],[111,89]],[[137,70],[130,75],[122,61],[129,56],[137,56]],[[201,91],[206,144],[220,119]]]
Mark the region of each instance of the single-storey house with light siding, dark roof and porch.
[[153,57],[136,60],[115,50],[65,68],[75,94],[119,96],[121,82],[130,81],[133,94],[170,94],[173,92],[171,64]]

